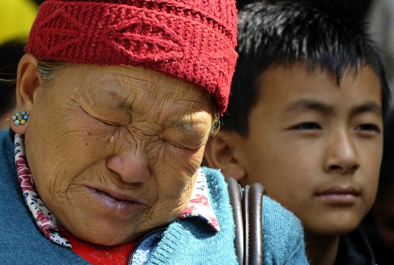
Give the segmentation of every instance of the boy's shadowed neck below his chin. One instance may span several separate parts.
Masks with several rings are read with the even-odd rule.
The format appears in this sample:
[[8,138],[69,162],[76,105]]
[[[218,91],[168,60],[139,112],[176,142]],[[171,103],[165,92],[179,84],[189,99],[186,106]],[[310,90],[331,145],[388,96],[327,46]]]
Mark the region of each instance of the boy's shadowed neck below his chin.
[[305,247],[311,265],[333,265],[338,253],[339,235],[321,235],[305,231]]

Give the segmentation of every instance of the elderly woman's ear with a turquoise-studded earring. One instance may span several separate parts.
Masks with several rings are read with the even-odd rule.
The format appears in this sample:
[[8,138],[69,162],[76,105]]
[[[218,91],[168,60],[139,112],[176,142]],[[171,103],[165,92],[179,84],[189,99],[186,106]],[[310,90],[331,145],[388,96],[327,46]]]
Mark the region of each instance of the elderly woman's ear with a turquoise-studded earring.
[[[34,93],[40,86],[39,73],[37,72],[37,59],[32,54],[23,55],[21,61],[18,64],[17,75],[16,75],[16,107],[11,112],[10,125],[12,130],[16,134],[25,134],[29,126],[30,112],[33,109]],[[22,112],[24,111],[24,112]],[[18,116],[21,112],[27,115],[22,115],[18,122]],[[15,117],[13,117],[15,116]],[[22,122],[21,122],[22,121]]]

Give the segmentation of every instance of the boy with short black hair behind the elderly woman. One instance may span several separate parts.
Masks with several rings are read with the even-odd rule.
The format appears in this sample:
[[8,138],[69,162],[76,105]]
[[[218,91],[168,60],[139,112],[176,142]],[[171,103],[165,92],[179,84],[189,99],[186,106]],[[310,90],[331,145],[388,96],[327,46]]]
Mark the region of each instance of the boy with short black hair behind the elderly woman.
[[315,264],[374,264],[358,228],[377,193],[388,87],[363,25],[329,7],[245,6],[223,128],[205,159],[303,221]]

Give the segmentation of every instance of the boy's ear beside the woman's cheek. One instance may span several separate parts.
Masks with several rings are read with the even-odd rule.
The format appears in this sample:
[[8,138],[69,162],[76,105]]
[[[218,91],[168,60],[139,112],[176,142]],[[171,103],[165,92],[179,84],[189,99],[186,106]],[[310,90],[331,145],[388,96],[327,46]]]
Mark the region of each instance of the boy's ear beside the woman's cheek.
[[224,177],[233,177],[239,181],[246,177],[246,171],[235,156],[234,137],[234,133],[220,130],[205,146],[204,157],[210,167],[220,168]]

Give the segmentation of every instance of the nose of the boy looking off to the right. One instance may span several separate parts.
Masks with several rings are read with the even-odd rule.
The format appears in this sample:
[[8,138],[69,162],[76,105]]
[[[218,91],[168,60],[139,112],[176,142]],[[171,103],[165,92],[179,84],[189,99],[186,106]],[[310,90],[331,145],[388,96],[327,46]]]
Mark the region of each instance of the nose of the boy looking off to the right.
[[325,172],[347,175],[357,171],[360,164],[351,136],[346,133],[337,134],[326,146]]

